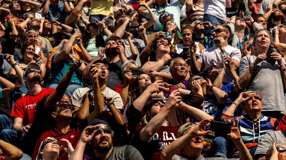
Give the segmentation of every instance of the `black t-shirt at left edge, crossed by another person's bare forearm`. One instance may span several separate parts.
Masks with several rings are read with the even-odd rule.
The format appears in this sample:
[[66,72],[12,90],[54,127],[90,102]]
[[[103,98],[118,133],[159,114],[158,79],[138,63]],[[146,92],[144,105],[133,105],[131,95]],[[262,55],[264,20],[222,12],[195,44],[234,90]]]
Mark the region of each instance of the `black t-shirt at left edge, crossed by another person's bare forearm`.
[[[15,84],[16,80],[18,79],[17,75],[4,74],[3,68],[1,68],[0,70],[0,76],[12,82],[13,84]],[[10,120],[11,120],[10,115],[12,110],[11,94],[12,92],[0,98],[0,114],[5,114]]]

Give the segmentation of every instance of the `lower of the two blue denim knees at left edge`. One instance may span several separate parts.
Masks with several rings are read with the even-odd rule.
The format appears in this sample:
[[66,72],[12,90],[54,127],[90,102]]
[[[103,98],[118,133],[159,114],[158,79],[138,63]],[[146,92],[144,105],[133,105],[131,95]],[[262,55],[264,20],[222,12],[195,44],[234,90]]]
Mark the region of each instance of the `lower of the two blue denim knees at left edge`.
[[18,143],[22,137],[24,137],[23,133],[16,132],[12,129],[3,129],[0,134],[1,140],[4,140],[5,142],[10,143],[12,145]]

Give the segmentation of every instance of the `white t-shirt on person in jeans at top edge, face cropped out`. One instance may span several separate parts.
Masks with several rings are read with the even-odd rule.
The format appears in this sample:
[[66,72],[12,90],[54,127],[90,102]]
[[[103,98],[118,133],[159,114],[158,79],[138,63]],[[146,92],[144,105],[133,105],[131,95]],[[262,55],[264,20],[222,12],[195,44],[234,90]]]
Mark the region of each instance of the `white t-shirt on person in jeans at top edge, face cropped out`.
[[204,14],[215,16],[226,21],[225,0],[203,0]]

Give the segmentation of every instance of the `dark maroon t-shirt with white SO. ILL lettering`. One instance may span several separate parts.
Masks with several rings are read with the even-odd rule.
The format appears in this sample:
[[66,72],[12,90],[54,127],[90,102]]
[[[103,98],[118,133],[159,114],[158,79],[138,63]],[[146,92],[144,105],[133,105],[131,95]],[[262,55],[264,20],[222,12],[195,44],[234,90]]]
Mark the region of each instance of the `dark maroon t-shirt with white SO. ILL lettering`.
[[[161,160],[161,152],[174,140],[178,139],[178,130],[180,126],[161,126],[161,128],[148,140],[140,140],[140,132],[146,127],[145,124],[139,125],[135,129],[138,150],[144,159]],[[177,153],[177,155],[179,155]]]

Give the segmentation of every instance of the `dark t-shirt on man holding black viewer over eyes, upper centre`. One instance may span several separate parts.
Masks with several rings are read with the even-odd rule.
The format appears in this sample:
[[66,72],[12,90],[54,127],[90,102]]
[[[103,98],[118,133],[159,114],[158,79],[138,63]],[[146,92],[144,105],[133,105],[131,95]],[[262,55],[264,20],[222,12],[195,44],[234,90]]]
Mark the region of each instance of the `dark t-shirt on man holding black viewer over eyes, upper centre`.
[[114,89],[114,87],[117,84],[122,84],[123,82],[123,78],[121,75],[121,66],[122,66],[122,62],[121,60],[118,60],[115,63],[107,63],[106,58],[103,59],[103,63],[108,65],[108,79],[106,82],[106,87],[110,88],[110,89]]

